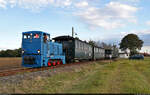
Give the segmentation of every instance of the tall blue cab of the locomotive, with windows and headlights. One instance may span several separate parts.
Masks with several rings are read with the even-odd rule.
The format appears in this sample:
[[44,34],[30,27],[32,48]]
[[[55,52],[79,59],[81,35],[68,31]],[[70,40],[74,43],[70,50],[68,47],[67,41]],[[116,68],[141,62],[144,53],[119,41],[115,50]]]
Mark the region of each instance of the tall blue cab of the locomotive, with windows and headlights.
[[42,62],[42,42],[47,43],[49,34],[40,31],[24,32],[22,35],[22,65],[40,67]]

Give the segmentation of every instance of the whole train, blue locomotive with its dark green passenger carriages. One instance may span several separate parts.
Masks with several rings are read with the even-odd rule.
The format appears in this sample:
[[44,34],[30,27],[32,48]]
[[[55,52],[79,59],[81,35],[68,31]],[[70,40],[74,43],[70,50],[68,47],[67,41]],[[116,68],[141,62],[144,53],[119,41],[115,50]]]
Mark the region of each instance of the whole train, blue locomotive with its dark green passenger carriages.
[[91,45],[71,36],[50,39],[43,31],[22,33],[22,66],[49,67],[83,60],[105,59],[109,55],[117,58],[117,50]]

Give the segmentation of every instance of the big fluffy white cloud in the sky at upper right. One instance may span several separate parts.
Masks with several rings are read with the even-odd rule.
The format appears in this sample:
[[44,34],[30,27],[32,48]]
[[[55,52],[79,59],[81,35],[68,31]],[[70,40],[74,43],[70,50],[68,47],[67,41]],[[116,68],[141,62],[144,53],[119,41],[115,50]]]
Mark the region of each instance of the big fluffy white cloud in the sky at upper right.
[[138,8],[134,6],[119,2],[110,2],[103,8],[88,6],[87,4],[86,6],[83,5],[85,4],[80,3],[82,10],[77,12],[76,15],[91,27],[115,29],[125,26],[126,23],[135,23],[137,21],[135,13]]

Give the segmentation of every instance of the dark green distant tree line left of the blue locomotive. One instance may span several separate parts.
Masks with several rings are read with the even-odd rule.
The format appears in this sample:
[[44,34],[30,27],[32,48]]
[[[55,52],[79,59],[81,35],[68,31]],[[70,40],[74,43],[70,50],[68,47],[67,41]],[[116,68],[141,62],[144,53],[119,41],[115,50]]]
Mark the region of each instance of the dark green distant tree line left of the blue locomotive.
[[2,50],[0,51],[0,57],[21,57],[21,48],[14,50]]

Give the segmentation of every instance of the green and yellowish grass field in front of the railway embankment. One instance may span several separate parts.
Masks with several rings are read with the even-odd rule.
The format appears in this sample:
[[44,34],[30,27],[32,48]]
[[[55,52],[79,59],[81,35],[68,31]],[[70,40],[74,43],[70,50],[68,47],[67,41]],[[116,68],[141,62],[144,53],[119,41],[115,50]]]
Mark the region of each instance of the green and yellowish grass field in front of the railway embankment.
[[1,93],[150,93],[150,58],[97,62],[0,89]]

